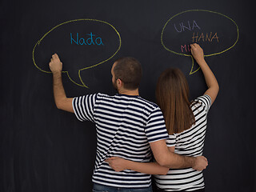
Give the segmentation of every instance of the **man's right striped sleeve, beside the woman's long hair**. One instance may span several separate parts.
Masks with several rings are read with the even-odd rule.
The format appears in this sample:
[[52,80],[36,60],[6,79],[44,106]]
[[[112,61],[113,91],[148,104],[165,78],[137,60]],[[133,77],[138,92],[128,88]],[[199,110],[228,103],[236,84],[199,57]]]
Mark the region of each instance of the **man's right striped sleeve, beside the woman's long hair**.
[[145,132],[148,142],[157,142],[168,138],[166,123],[159,107],[153,110],[150,114]]

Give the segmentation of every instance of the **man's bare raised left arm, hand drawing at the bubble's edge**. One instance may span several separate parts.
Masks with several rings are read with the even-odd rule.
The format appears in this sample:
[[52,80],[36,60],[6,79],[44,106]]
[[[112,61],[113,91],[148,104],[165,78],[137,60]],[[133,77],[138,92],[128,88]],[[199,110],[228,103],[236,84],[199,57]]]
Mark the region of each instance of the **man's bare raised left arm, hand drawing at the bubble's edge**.
[[66,98],[66,93],[62,84],[62,62],[58,58],[58,54],[52,55],[49,66],[53,73],[54,100],[57,108],[74,113],[72,106],[73,98]]

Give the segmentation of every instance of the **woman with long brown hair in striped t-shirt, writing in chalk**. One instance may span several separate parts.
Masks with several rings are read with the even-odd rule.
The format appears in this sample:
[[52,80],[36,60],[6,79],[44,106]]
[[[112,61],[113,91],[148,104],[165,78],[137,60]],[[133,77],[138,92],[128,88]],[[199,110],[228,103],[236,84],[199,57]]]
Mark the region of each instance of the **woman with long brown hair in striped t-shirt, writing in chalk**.
[[[208,86],[205,94],[189,102],[189,87],[184,74],[178,69],[167,69],[158,78],[156,99],[166,121],[169,150],[195,157],[202,155],[207,113],[217,97],[218,82],[204,59],[202,48],[196,43],[190,47]],[[158,191],[204,191],[202,171],[192,168],[173,170],[159,166],[157,162],[130,162],[118,157],[107,162],[116,171],[129,169],[154,174]]]

